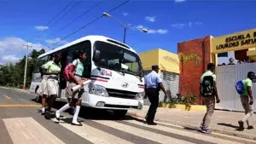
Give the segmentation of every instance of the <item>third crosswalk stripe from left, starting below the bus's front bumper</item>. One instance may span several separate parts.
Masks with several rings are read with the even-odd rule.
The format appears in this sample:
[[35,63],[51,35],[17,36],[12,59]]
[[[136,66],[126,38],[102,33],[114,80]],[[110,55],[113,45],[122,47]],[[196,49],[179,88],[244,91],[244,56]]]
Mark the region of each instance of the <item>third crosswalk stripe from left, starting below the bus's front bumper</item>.
[[160,134],[156,134],[154,132],[150,132],[147,130],[141,130],[141,129],[137,129],[135,127],[131,127],[129,125],[125,125],[125,124],[119,124],[117,122],[114,121],[108,121],[108,120],[93,120],[96,123],[99,124],[103,124],[103,125],[107,125],[109,127],[112,127],[116,130],[122,130],[125,131],[127,133],[132,133],[133,135],[138,135],[141,136],[145,139],[151,140],[151,141],[157,141],[163,144],[170,144],[170,141],[172,141],[172,144],[178,144],[178,143],[183,143],[183,144],[190,144],[192,142],[189,141],[183,141],[183,140],[178,140],[166,135],[160,135]]

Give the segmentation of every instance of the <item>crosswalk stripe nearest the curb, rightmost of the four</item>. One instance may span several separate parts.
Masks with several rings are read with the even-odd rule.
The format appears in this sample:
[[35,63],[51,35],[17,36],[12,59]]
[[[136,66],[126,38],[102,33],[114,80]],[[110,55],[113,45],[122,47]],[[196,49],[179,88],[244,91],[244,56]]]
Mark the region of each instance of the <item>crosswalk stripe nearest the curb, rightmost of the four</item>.
[[[125,122],[145,126],[145,124],[137,122],[136,120],[125,120]],[[191,138],[198,138],[203,141],[214,141],[214,142],[217,142],[218,144],[238,144],[239,143],[239,142],[235,142],[235,141],[227,141],[227,140],[223,140],[223,139],[218,139],[218,138],[215,138],[215,137],[212,137],[209,135],[201,135],[201,134],[195,134],[192,132],[188,132],[185,130],[172,129],[172,128],[161,126],[161,125],[157,125],[157,126],[147,125],[147,127],[154,129],[154,130],[162,130],[162,131],[166,131],[166,132],[170,132],[170,133],[176,133],[178,135],[185,135],[185,136],[188,136]]]

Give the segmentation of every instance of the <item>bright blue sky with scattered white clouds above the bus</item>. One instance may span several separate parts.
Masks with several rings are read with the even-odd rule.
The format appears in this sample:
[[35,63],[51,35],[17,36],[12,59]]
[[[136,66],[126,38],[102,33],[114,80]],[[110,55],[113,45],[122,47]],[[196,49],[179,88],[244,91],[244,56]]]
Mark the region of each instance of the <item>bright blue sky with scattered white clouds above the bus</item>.
[[[87,35],[103,35],[122,42],[124,27],[113,18],[130,26],[125,42],[139,53],[156,48],[177,53],[177,43],[183,41],[256,27],[256,0],[130,0],[109,13],[113,18],[102,17],[85,26],[125,0],[99,2],[0,0],[0,64],[20,60],[26,54],[23,44],[27,43],[32,46],[31,51],[55,49]],[[67,37],[82,26],[84,29]],[[148,32],[138,28],[147,28]],[[67,38],[53,45],[63,37]]]

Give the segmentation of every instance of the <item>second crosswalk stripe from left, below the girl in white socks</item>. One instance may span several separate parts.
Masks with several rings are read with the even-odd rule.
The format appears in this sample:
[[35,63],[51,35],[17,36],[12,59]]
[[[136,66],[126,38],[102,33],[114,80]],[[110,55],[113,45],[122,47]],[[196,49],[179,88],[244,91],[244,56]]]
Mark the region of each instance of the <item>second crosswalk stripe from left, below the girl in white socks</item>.
[[[53,118],[52,120],[56,121],[55,118]],[[102,130],[97,130],[88,124],[83,124],[83,126],[73,126],[71,124],[63,123],[63,121],[60,121],[59,124],[65,127],[67,130],[73,131],[73,133],[80,135],[81,137],[92,143],[113,144],[114,141],[114,143],[116,144],[133,144],[132,142],[125,141],[115,135],[110,135]]]

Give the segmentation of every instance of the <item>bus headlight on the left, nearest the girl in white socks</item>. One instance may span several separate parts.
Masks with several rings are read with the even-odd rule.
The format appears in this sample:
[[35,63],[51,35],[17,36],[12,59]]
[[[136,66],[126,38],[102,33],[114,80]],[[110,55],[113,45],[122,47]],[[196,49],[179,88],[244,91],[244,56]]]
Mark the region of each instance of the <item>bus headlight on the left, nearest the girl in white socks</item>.
[[108,91],[97,84],[89,84],[89,94],[99,95],[99,96],[109,96]]

